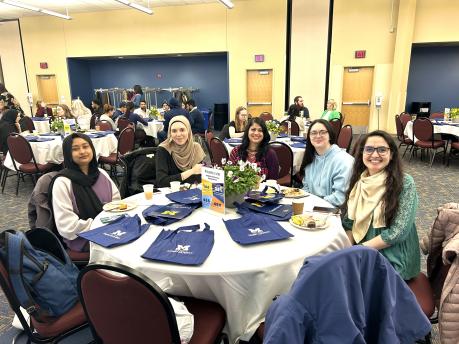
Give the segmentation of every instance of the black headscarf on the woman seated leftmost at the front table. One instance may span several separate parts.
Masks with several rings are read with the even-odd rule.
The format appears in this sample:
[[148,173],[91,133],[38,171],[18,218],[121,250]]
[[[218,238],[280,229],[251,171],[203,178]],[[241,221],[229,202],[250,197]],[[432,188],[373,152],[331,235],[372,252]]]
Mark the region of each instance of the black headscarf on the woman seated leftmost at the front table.
[[[92,149],[92,160],[89,163],[88,175],[84,174],[72,158],[72,143],[75,138],[81,138],[89,143]],[[91,139],[80,133],[73,133],[67,136],[62,143],[64,153],[64,170],[59,175],[69,178],[72,181],[73,194],[79,211],[80,219],[93,219],[102,211],[102,202],[91,188],[99,179],[99,168],[97,167],[96,150]]]

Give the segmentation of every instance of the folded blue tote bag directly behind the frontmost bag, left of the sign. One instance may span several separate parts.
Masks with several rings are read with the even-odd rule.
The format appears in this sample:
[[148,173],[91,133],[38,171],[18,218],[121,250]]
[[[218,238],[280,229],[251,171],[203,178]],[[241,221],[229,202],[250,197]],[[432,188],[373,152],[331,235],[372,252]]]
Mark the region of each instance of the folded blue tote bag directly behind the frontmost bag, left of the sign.
[[200,204],[152,205],[142,212],[145,221],[153,225],[167,226],[189,216]]

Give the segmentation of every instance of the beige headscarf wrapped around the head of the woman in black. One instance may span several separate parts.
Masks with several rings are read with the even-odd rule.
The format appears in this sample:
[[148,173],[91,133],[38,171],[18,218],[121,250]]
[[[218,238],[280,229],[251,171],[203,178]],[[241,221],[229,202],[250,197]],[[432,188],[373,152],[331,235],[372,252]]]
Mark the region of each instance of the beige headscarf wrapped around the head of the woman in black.
[[[171,137],[171,128],[175,122],[183,123],[188,130],[188,138],[184,145],[177,145]],[[193,141],[190,122],[185,116],[175,116],[169,122],[167,139],[159,145],[166,149],[174,159],[175,164],[181,171],[186,171],[194,165],[202,162],[206,156],[199,143]]]

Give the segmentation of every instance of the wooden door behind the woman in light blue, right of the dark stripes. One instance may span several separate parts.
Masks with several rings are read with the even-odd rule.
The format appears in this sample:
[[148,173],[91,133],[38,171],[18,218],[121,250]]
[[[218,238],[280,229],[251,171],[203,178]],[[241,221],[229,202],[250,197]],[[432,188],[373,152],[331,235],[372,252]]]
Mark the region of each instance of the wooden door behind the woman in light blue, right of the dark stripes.
[[372,88],[373,67],[344,68],[341,113],[354,133],[368,131]]

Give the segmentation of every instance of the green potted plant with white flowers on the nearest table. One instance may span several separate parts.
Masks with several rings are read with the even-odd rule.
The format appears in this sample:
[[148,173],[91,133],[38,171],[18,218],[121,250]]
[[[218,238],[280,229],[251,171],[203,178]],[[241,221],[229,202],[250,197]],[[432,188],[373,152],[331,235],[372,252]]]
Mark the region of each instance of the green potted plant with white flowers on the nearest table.
[[260,184],[265,178],[261,176],[261,168],[250,162],[239,160],[237,164],[231,161],[224,161],[223,170],[225,171],[225,206],[234,208],[233,203],[244,201],[246,193]]

